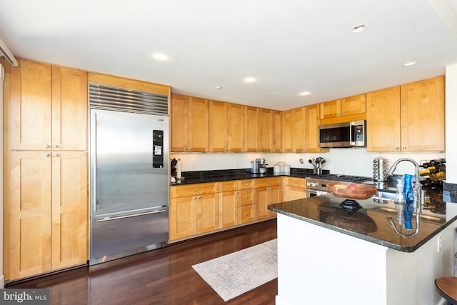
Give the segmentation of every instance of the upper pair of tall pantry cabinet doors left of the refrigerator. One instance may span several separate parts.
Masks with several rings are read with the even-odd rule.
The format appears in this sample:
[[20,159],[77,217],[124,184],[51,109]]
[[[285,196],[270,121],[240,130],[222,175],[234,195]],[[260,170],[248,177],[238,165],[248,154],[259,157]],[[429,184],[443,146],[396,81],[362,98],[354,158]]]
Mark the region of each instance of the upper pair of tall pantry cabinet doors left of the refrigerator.
[[9,149],[86,149],[85,71],[19,59],[9,94]]

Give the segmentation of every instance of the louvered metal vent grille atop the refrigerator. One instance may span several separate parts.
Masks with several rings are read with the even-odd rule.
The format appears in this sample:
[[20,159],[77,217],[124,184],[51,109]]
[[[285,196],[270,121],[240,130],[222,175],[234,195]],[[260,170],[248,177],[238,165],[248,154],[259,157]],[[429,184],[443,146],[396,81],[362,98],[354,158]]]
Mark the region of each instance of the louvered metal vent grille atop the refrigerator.
[[169,114],[169,96],[89,83],[89,107],[140,114]]

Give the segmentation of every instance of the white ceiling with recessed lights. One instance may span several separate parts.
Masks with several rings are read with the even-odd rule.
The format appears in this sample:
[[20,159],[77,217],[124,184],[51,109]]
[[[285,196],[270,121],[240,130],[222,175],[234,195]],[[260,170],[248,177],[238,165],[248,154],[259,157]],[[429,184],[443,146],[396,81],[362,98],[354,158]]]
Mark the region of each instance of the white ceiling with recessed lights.
[[[0,0],[0,8],[0,38],[15,56],[268,109],[457,64],[457,0]],[[352,34],[358,24],[366,31]]]

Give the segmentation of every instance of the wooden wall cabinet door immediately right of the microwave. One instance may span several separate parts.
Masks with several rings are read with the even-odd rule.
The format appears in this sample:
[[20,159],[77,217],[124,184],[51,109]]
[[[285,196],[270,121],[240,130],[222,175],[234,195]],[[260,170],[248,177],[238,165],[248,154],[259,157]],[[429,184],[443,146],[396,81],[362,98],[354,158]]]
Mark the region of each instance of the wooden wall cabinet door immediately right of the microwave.
[[366,150],[400,151],[400,86],[366,94]]

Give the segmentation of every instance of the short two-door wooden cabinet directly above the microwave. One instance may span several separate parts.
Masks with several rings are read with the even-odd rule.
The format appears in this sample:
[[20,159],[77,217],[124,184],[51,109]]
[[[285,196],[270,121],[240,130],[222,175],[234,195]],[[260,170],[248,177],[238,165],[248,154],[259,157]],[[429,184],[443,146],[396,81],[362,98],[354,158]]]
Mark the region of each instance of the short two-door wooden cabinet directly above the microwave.
[[326,101],[320,104],[321,119],[332,119],[338,116],[364,114],[366,112],[366,95],[358,94],[344,99]]

